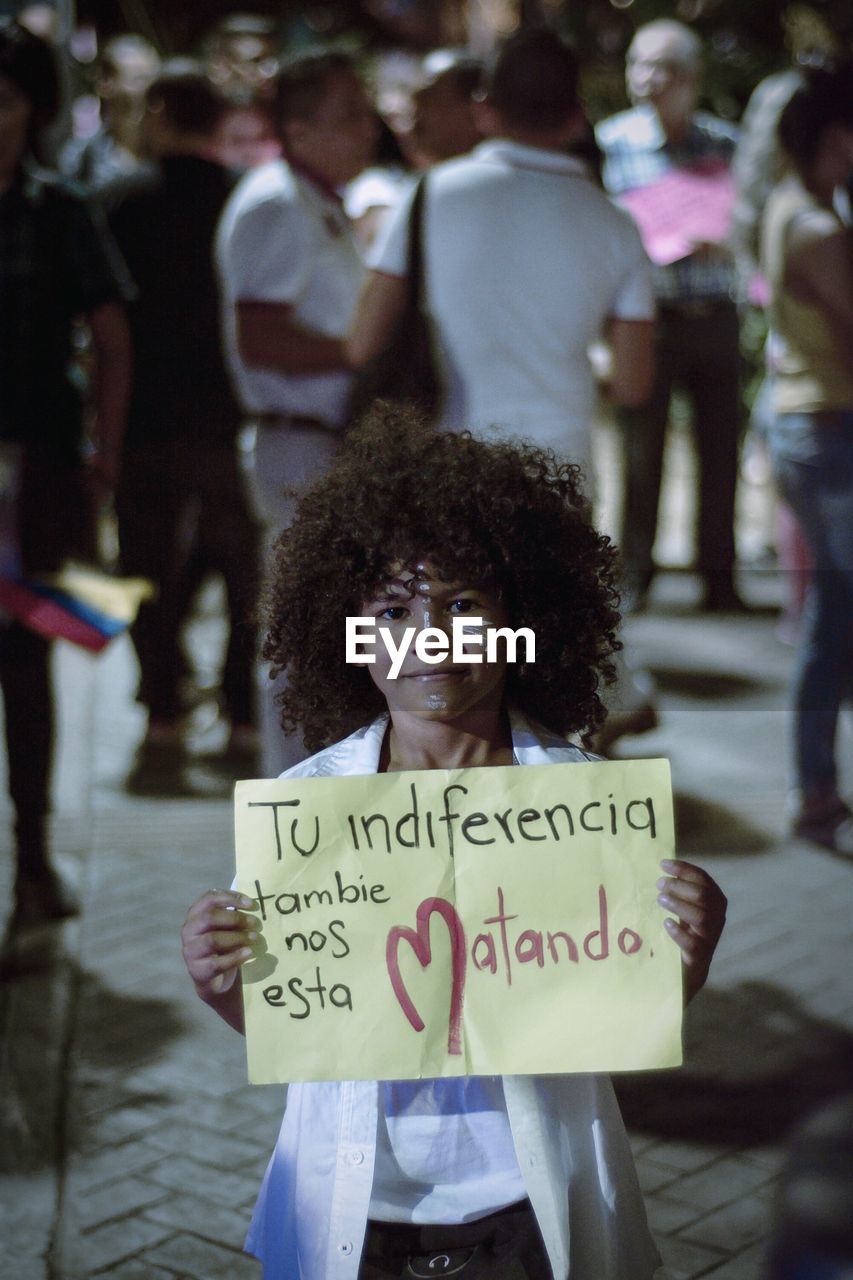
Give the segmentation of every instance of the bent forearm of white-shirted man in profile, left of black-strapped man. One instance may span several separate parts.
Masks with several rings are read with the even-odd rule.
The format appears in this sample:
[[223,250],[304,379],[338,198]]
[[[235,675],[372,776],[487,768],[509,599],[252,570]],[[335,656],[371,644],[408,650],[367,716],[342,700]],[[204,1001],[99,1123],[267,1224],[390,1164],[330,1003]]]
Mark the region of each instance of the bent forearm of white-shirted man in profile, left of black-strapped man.
[[250,369],[295,375],[347,369],[343,339],[298,324],[284,302],[238,302],[237,344]]

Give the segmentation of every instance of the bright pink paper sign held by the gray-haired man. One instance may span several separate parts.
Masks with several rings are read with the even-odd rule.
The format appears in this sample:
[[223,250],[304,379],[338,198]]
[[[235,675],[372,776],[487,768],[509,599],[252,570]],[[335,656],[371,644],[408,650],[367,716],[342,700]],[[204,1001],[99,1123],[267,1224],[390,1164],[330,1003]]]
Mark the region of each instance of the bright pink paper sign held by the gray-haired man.
[[660,266],[688,257],[697,244],[729,234],[734,184],[724,165],[674,169],[648,187],[619,197],[637,220],[646,252]]

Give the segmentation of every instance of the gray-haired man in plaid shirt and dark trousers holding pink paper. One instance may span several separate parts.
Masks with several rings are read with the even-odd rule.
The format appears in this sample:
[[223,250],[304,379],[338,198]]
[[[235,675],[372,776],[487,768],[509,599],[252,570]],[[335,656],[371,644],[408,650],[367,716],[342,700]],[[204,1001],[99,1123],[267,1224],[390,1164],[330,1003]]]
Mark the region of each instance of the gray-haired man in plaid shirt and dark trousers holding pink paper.
[[[626,83],[633,108],[598,125],[607,189],[626,204],[630,193],[681,175],[720,178],[726,173],[736,131],[697,110],[702,61],[698,36],[680,22],[660,19],[640,27],[628,50]],[[665,182],[666,186],[666,182]],[[689,191],[685,183],[685,192]],[[698,465],[697,568],[702,604],[738,609],[734,588],[734,502],[742,425],[739,328],[734,303],[734,262],[720,219],[719,229],[694,233],[685,197],[661,187],[660,218],[680,247],[656,244],[654,216],[644,239],[656,262],[658,305],[657,378],[646,404],[622,408],[625,495],[620,541],[628,585],[642,605],[651,585],[657,531],[663,445],[675,387],[693,413]],[[649,205],[653,211],[653,205]],[[683,224],[679,225],[679,220]]]

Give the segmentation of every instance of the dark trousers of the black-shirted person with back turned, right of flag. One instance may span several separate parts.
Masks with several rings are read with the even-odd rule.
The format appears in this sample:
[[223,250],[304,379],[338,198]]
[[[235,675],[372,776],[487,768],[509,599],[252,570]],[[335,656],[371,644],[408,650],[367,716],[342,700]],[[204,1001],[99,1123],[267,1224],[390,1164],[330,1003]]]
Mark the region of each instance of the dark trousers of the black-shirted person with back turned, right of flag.
[[231,634],[224,709],[232,723],[252,723],[259,540],[236,448],[173,442],[128,451],[117,515],[123,572],[149,577],[158,589],[131,632],[141,668],[140,701],[154,719],[173,721],[181,713],[186,575],[200,558],[225,584]]

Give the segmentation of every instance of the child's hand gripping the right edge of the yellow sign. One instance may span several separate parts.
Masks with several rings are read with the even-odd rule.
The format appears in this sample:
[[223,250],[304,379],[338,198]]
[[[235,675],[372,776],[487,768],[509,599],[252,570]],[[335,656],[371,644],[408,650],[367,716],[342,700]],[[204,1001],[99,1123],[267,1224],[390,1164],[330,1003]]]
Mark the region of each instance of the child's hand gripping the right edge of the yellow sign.
[[663,927],[679,946],[684,963],[684,1001],[704,986],[722,927],[726,896],[707,872],[693,863],[662,861],[667,873],[657,882],[657,900],[678,919],[667,916]]

